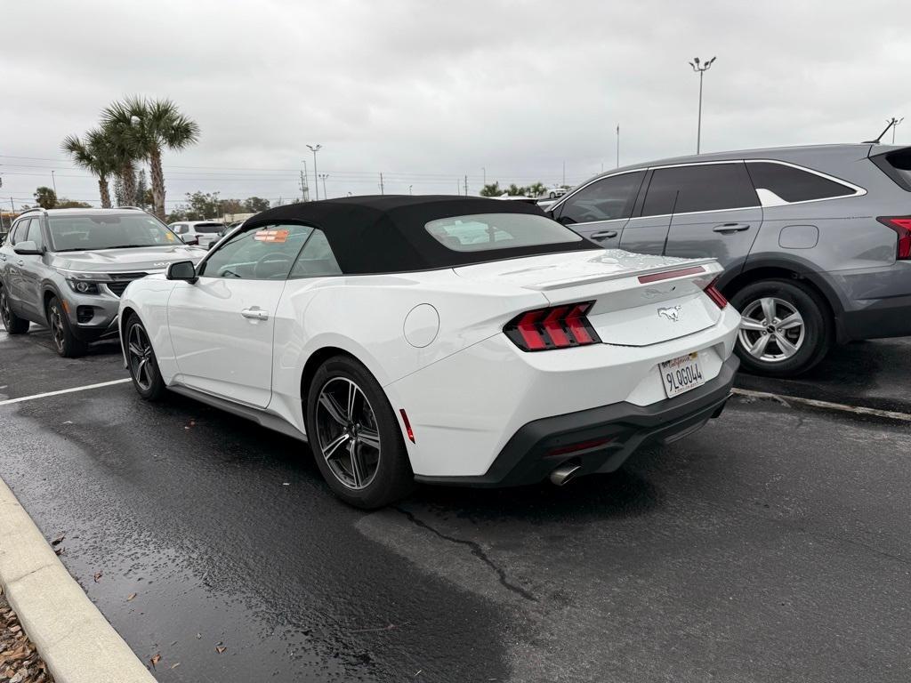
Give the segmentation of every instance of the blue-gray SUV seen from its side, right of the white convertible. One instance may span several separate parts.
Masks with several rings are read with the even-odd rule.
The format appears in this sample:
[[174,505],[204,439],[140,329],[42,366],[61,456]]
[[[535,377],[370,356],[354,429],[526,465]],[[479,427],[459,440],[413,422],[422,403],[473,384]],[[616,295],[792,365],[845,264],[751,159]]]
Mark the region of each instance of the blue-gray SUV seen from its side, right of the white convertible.
[[911,335],[911,148],[754,149],[618,168],[548,213],[606,248],[718,259],[752,372]]

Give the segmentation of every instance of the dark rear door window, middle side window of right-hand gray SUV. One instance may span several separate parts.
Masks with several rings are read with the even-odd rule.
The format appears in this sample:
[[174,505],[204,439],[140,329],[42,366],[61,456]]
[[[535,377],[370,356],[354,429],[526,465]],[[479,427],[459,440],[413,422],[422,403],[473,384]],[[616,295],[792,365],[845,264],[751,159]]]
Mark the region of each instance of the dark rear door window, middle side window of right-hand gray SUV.
[[745,209],[759,205],[745,164],[700,164],[655,169],[642,215]]

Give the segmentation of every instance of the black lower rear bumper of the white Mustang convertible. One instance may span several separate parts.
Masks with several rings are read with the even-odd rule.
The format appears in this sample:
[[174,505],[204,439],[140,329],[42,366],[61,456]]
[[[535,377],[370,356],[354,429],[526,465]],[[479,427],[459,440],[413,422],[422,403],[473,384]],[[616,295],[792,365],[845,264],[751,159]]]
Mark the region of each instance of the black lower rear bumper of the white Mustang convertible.
[[[714,379],[676,398],[645,406],[612,403],[527,423],[513,434],[485,474],[416,475],[415,480],[471,486],[534,484],[568,461],[581,465],[578,474],[613,472],[641,446],[670,443],[718,417],[731,396],[739,363],[732,355]],[[567,450],[581,443],[590,445]]]

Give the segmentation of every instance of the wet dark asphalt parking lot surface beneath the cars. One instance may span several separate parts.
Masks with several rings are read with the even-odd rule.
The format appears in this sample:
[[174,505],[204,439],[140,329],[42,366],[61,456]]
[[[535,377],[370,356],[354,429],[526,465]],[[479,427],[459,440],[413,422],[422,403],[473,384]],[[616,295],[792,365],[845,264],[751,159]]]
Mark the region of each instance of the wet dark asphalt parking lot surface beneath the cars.
[[[0,369],[0,402],[126,377],[40,330]],[[0,474],[161,681],[906,681],[911,423],[786,397],[911,413],[909,376],[911,340],[852,344],[617,474],[374,513],[129,383],[0,405]]]

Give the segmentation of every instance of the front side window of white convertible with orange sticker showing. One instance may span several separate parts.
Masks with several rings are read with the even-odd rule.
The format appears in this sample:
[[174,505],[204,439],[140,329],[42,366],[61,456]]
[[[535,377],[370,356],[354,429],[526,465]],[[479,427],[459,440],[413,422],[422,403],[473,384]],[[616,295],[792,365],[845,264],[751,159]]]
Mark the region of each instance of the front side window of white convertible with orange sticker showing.
[[285,280],[312,228],[267,225],[243,230],[203,263],[200,276],[242,280]]

